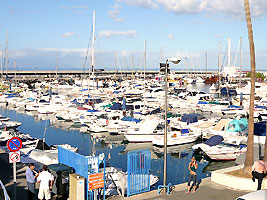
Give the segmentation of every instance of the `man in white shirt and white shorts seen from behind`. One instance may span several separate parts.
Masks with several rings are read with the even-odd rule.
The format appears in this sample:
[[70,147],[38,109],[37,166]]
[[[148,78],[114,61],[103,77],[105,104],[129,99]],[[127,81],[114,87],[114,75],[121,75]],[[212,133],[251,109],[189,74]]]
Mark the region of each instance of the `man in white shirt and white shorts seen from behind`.
[[40,183],[38,198],[40,200],[43,198],[46,200],[51,199],[51,190],[54,183],[54,177],[50,172],[48,172],[47,165],[43,166],[43,171],[39,174],[37,182]]

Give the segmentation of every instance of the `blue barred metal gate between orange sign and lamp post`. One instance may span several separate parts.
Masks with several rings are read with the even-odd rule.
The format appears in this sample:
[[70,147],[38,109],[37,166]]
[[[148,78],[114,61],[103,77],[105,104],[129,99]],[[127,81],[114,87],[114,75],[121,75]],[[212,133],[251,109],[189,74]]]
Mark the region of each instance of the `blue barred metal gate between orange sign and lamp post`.
[[127,196],[149,191],[151,152],[148,149],[130,151],[127,156]]

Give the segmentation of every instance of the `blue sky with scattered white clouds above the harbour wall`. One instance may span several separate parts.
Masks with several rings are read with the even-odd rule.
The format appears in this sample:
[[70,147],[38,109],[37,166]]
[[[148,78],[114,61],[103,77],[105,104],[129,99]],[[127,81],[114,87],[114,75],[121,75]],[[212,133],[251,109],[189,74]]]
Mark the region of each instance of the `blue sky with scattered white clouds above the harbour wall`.
[[[218,55],[220,65],[227,65],[227,41],[231,38],[231,65],[250,69],[243,0],[0,0],[0,3],[0,45],[3,62],[8,49],[9,70],[88,70],[94,10],[96,68],[136,71],[146,66],[146,70],[157,70],[160,62],[179,57],[182,61],[172,64],[171,70],[205,71],[207,53],[208,70],[216,70]],[[250,6],[256,69],[265,70],[267,3],[250,0]]]

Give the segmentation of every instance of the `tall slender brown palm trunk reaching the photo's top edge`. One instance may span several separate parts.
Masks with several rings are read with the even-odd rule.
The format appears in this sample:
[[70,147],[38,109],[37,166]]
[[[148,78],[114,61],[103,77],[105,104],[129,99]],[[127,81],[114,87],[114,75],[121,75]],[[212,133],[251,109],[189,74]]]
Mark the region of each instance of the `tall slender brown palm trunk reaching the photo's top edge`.
[[249,0],[244,0],[245,12],[246,12],[246,21],[248,29],[248,40],[249,40],[249,49],[250,49],[250,66],[251,66],[251,90],[250,90],[250,106],[249,106],[249,120],[248,120],[248,144],[247,144],[247,153],[245,159],[245,165],[243,172],[246,174],[251,173],[251,166],[254,162],[254,95],[255,95],[255,49],[253,41],[253,30],[250,17],[250,7]]

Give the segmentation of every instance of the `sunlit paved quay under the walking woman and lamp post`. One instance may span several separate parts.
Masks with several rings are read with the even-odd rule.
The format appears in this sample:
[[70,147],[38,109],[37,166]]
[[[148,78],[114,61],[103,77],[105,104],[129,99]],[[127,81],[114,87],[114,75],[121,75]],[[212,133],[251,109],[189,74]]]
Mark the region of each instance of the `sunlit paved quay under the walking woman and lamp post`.
[[110,200],[235,200],[237,197],[248,192],[232,190],[210,181],[210,178],[203,179],[195,193],[186,194],[187,184],[176,185],[170,195],[157,194],[157,190],[127,197],[110,197]]

